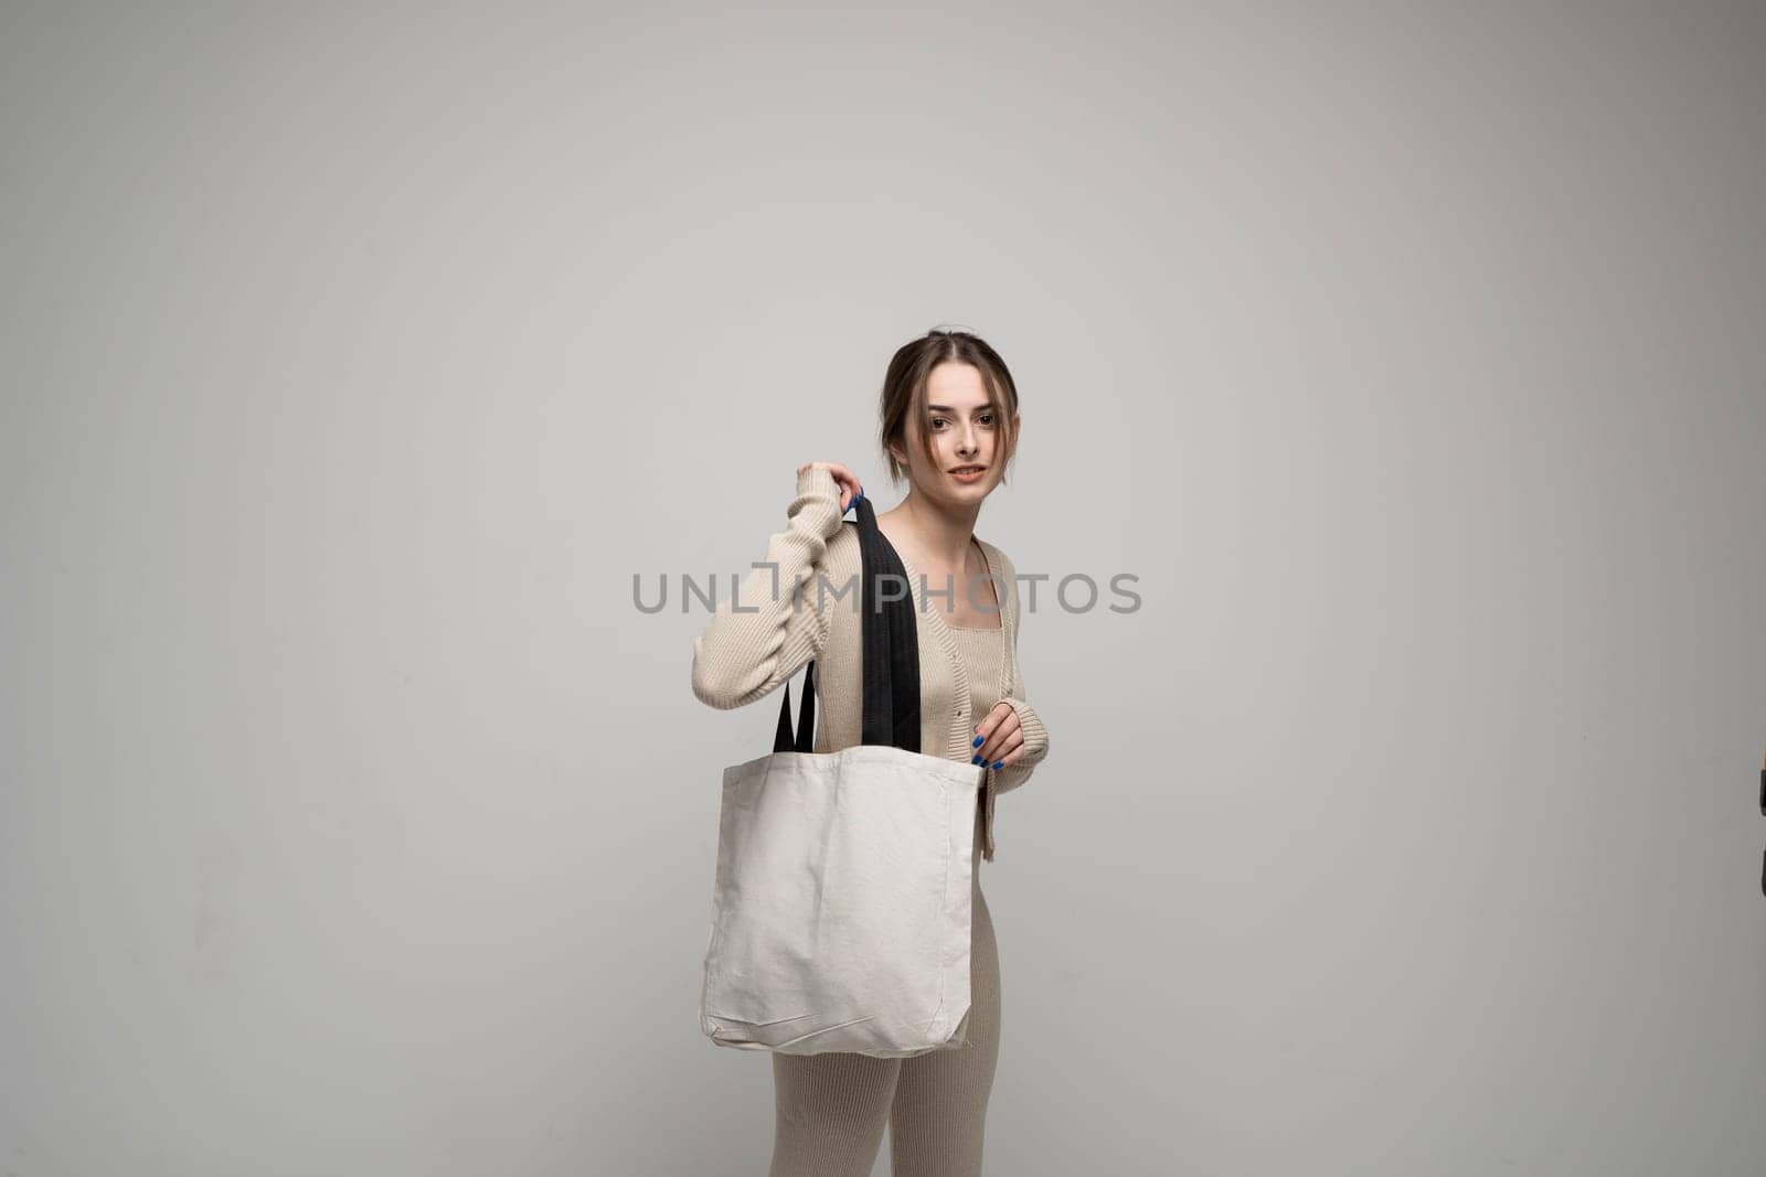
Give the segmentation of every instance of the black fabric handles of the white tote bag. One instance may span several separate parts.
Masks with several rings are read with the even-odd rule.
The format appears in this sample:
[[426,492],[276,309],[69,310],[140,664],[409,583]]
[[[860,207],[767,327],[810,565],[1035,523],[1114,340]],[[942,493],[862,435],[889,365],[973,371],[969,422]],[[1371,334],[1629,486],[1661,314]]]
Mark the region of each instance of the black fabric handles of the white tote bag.
[[[908,752],[920,750],[920,641],[918,621],[913,616],[913,593],[897,600],[881,600],[872,591],[879,574],[894,574],[895,584],[908,584],[908,570],[901,556],[878,528],[876,510],[869,498],[860,498],[858,515],[858,609],[864,633],[864,736],[860,743],[890,745]],[[807,586],[819,591],[818,586]],[[796,734],[791,734],[791,683],[779,699],[779,729],[774,734],[774,752],[816,750],[816,662],[804,669],[804,704],[798,709]]]

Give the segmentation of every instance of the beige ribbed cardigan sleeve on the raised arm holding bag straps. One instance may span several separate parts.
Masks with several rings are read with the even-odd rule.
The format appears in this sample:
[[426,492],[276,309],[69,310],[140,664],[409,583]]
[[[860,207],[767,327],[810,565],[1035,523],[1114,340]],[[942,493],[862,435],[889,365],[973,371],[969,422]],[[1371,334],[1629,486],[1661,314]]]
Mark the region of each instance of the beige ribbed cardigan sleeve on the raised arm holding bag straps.
[[816,581],[828,540],[841,533],[841,517],[832,473],[812,466],[796,476],[786,528],[768,540],[761,558],[777,566],[777,575],[768,566],[751,570],[736,596],[721,603],[692,639],[692,693],[699,702],[721,711],[754,702],[821,655],[837,586],[818,593]]

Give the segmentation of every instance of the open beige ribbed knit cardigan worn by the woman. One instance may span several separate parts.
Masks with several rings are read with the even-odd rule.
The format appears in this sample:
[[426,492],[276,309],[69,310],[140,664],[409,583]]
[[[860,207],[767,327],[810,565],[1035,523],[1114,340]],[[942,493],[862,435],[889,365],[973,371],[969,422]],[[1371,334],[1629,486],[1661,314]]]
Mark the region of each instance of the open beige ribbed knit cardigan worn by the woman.
[[[1017,669],[1017,568],[998,547],[977,536],[987,556],[1005,618],[1005,697],[1023,729],[1017,761],[984,769],[984,858],[994,856],[994,798],[1030,780],[1049,755],[1049,732],[1026,702]],[[897,552],[899,554],[899,552]],[[955,637],[945,625],[948,602],[943,584],[927,586],[902,556],[915,605],[920,646],[920,750],[968,762],[975,759],[975,727],[985,716],[970,715],[970,681]],[[816,660],[816,752],[839,752],[862,743],[862,618],[857,588],[862,563],[858,524],[846,522],[834,475],[816,466],[796,476],[796,498],[786,508],[786,528],[766,544],[766,556],[749,572],[729,602],[719,603],[705,632],[692,641],[692,693],[706,706],[729,709],[754,702]],[[775,589],[777,586],[777,589]],[[957,593],[964,591],[955,584]],[[985,600],[982,582],[975,596]],[[793,708],[795,711],[795,708]],[[795,715],[793,715],[795,722]]]

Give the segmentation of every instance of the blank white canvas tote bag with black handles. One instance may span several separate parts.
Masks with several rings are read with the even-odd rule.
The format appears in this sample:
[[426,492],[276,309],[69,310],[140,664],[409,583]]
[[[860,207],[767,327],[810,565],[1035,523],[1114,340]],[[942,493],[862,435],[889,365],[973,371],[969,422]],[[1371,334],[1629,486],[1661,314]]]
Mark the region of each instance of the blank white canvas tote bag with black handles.
[[920,656],[895,549],[858,499],[864,743],[812,752],[816,663],[791,732],[724,769],[699,1027],[719,1046],[904,1059],[961,1046],[984,769],[920,752]]

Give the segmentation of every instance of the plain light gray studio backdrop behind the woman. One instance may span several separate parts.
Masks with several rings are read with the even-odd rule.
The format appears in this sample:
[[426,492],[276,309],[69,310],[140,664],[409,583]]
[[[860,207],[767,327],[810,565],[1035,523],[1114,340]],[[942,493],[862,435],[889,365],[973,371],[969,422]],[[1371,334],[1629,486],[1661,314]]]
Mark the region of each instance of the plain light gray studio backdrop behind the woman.
[[[0,1175],[761,1173],[701,582],[970,326],[987,1172],[1766,1152],[1759,5],[7,5]],[[669,607],[634,605],[632,579]],[[796,692],[793,692],[795,695]],[[888,1172],[888,1145],[878,1159]]]

